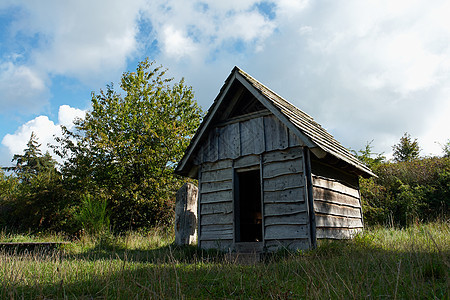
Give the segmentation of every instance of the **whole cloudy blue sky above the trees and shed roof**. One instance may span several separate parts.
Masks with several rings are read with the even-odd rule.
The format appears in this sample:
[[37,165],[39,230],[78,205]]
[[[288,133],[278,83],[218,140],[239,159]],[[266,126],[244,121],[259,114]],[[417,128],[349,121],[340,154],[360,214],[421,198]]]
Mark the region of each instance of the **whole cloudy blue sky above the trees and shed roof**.
[[207,110],[234,66],[345,147],[450,139],[450,1],[0,0],[0,165],[148,57]]

